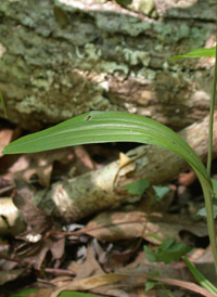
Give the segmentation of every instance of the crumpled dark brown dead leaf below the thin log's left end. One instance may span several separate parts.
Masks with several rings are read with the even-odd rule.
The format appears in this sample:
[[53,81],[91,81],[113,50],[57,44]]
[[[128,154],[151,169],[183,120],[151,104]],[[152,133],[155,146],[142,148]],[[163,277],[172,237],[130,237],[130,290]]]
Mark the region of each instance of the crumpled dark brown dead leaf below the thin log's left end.
[[27,224],[27,231],[17,236],[26,242],[20,246],[17,254],[25,262],[40,269],[49,250],[53,259],[62,258],[65,237],[55,232],[58,230],[53,225],[52,217],[38,209],[30,201],[33,193],[28,184],[17,182],[17,193],[13,201]]

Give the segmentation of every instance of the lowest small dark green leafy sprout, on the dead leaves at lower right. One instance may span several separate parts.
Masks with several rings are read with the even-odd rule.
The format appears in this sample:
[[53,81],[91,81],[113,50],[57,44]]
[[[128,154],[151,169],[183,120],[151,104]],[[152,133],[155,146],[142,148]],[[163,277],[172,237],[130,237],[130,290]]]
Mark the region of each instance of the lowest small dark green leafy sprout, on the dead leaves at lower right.
[[164,262],[165,264],[180,260],[190,250],[191,247],[184,243],[177,243],[175,238],[164,241],[156,250],[144,246],[145,256],[150,262]]

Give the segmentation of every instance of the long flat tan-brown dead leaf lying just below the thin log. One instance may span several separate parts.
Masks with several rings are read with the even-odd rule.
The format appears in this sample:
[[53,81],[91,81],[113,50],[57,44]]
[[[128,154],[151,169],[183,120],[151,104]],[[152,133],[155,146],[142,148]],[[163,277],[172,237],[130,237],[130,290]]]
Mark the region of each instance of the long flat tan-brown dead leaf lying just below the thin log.
[[[90,230],[85,232],[99,241],[131,240],[142,235],[145,223],[145,214],[142,211],[106,211],[89,221],[86,228]],[[182,230],[189,231],[196,236],[207,236],[207,229],[204,222],[195,224],[187,216],[151,214],[144,238],[149,242],[157,243],[155,238],[146,236],[150,233],[154,233],[162,240],[168,237],[180,240],[179,233]]]

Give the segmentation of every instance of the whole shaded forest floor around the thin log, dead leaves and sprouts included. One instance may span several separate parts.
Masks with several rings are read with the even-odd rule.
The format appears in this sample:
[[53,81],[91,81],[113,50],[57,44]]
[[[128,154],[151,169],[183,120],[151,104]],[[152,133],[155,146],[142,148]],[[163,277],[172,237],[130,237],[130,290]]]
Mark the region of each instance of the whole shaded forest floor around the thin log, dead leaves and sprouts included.
[[[24,133],[1,119],[0,148]],[[217,285],[206,221],[197,215],[204,202],[194,172],[171,177],[170,183],[163,185],[168,191],[159,204],[151,203],[153,189],[149,188],[133,204],[126,195],[118,209],[105,209],[68,224],[30,202],[36,191],[101,168],[132,147],[130,143],[91,144],[0,155],[1,297],[213,296],[200,288],[196,293],[192,285],[196,281],[182,258],[173,260],[180,251],[177,243],[183,249],[189,246],[188,258]],[[214,160],[213,178],[217,177],[216,166]],[[13,221],[15,201],[20,218]],[[175,256],[162,248],[163,244],[174,246]]]

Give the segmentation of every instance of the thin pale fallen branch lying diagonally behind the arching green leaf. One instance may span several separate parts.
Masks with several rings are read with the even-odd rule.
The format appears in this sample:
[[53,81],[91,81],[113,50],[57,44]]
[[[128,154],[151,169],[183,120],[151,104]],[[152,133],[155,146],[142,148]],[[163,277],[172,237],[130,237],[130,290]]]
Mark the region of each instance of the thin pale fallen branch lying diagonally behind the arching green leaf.
[[[181,130],[179,134],[204,160],[208,150],[208,117]],[[214,120],[213,153],[216,157],[217,112]],[[51,189],[37,192],[33,196],[33,202],[46,212],[51,214],[52,211],[52,215],[62,222],[71,223],[103,209],[117,207],[129,198],[135,198],[125,190],[125,185],[132,181],[148,179],[152,184],[161,184],[189,168],[181,157],[157,146],[141,145],[129,151],[127,156],[131,160],[122,168],[119,160],[115,160],[98,170],[59,181]],[[7,203],[7,199],[0,199],[1,205],[3,201]],[[8,202],[10,210],[2,206],[0,215],[15,216],[16,219],[11,221],[12,224],[15,222],[17,225],[18,210],[10,199]],[[0,232],[9,232],[9,225],[7,227],[1,220]]]

